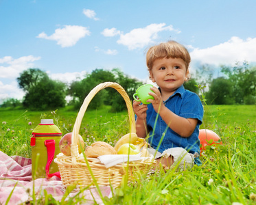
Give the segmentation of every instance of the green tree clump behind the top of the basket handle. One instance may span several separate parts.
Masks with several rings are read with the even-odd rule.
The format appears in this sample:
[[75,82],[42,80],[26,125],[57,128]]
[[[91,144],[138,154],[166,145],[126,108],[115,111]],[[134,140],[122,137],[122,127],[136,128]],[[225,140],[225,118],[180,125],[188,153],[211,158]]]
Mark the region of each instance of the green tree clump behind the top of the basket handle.
[[[130,79],[130,77],[117,68],[114,68],[111,71],[96,69],[93,70],[91,74],[87,74],[81,81],[74,81],[71,84],[68,94],[73,97],[73,104],[75,104],[75,107],[81,107],[84,98],[89,92],[91,92],[96,85],[104,82],[119,83],[119,85],[124,87],[124,90],[126,90],[130,99],[132,99],[132,95],[135,93],[137,87],[142,85],[141,82],[136,79]],[[98,92],[91,100],[89,108],[97,109],[102,107],[102,105],[111,105],[112,111],[126,109],[124,98],[122,98],[116,90],[110,87]]]

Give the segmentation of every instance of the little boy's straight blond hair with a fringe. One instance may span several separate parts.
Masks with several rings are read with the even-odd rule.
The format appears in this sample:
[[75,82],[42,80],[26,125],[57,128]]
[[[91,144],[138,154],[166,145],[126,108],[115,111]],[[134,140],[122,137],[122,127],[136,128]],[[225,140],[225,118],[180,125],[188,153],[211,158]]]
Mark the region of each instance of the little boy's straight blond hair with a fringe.
[[189,63],[191,61],[189,52],[182,44],[172,40],[168,42],[163,42],[156,46],[152,46],[148,49],[146,55],[146,63],[148,70],[152,70],[154,60],[162,58],[181,58],[185,62],[186,70],[189,68]]

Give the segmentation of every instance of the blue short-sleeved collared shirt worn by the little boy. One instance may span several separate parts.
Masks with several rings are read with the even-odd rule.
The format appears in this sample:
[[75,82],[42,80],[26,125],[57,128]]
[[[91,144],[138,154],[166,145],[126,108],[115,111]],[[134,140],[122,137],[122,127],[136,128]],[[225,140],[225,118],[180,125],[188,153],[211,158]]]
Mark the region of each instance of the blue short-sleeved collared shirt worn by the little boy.
[[159,141],[161,141],[161,137],[163,136],[161,145],[158,149],[161,153],[169,148],[181,147],[191,154],[194,154],[195,152],[200,154],[200,141],[198,135],[199,126],[202,124],[203,107],[198,95],[189,90],[185,90],[182,85],[176,92],[174,92],[174,94],[172,94],[172,96],[164,101],[164,104],[176,115],[183,118],[197,119],[198,124],[191,136],[181,137],[181,135],[178,135],[167,126],[161,116],[154,111],[152,104],[148,105],[147,126],[148,131],[150,132],[148,142],[152,148],[157,148]]

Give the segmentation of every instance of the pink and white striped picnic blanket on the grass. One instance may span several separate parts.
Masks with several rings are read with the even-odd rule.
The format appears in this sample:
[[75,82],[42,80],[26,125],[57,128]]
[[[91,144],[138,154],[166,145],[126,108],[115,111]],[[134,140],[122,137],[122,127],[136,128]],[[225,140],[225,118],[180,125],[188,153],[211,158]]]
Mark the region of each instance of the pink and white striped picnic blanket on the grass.
[[[0,151],[0,204],[21,204],[32,199],[33,189],[36,195],[44,195],[44,190],[51,194],[55,200],[62,200],[65,189],[60,178],[38,178],[32,180],[31,159],[22,156],[8,156]],[[103,197],[112,197],[110,187],[101,187]],[[73,197],[78,192],[69,193]],[[80,197],[86,201],[83,204],[102,204],[97,189],[85,190]],[[95,200],[95,201],[94,201]]]

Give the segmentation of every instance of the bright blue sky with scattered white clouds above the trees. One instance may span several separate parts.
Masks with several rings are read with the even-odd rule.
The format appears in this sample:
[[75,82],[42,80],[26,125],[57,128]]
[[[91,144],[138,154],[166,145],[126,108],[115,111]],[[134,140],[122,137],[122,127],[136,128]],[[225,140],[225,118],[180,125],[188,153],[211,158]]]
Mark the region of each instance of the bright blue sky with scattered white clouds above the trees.
[[148,80],[145,52],[176,40],[198,64],[256,62],[256,1],[0,0],[0,102],[24,95],[16,78],[40,68],[71,83],[95,68]]

